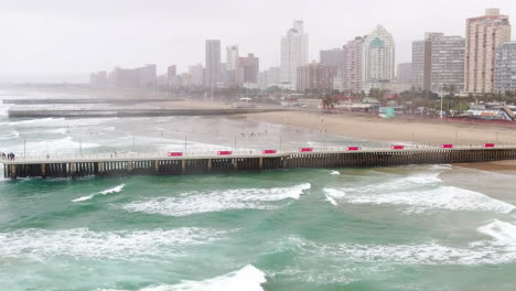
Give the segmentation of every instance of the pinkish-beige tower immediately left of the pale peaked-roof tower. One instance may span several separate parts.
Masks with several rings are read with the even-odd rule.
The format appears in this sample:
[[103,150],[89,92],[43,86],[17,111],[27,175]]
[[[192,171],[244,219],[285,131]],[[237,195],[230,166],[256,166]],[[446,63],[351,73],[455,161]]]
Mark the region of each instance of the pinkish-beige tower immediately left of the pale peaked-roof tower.
[[362,44],[364,37],[357,36],[344,47],[343,90],[359,93],[362,90]]

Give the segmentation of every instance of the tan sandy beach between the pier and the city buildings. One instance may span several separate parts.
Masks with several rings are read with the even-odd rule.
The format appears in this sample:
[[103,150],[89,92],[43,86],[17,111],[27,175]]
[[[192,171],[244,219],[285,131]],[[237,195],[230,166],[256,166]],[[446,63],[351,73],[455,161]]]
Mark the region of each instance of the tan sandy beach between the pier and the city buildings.
[[345,114],[323,115],[302,111],[247,115],[257,121],[322,130],[329,134],[361,140],[421,144],[480,144],[494,142],[516,144],[516,129],[484,125],[434,123],[418,120],[381,119]]

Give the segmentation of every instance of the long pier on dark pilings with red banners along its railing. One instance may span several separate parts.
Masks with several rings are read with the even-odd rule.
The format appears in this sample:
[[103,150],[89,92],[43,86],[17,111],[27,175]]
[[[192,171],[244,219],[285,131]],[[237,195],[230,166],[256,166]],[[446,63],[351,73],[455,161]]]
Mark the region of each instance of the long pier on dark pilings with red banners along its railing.
[[516,160],[516,146],[216,152],[103,153],[17,157],[0,160],[4,177],[78,177],[89,175],[180,175],[297,168],[373,168],[408,164]]

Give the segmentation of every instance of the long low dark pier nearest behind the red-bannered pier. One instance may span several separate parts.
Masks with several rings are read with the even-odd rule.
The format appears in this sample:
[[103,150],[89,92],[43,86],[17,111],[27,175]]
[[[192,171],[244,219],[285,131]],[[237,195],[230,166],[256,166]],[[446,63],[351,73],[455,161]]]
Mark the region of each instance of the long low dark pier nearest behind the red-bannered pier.
[[160,109],[160,108],[96,108],[96,109],[9,109],[9,118],[49,118],[49,117],[159,117],[159,116],[227,116],[286,111],[286,109]]

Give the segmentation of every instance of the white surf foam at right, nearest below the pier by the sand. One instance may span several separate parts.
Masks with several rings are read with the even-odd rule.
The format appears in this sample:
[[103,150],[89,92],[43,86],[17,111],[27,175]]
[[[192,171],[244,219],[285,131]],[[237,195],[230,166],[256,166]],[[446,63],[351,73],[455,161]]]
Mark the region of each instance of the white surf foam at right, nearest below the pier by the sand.
[[352,204],[399,205],[408,213],[430,209],[482,211],[510,213],[515,206],[479,192],[454,186],[440,186],[428,191],[370,193],[324,188],[326,195]]

